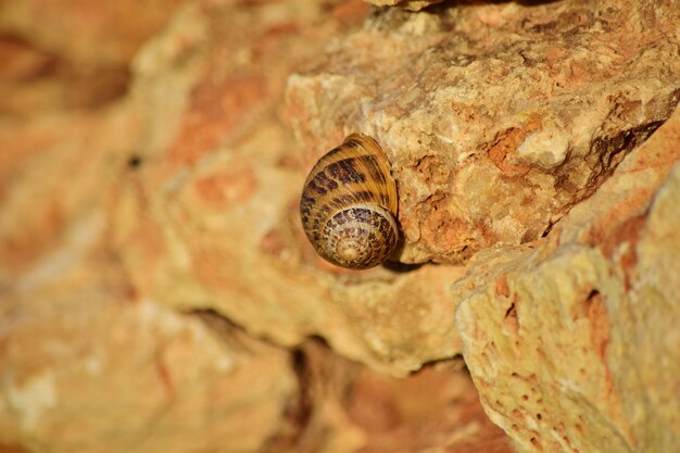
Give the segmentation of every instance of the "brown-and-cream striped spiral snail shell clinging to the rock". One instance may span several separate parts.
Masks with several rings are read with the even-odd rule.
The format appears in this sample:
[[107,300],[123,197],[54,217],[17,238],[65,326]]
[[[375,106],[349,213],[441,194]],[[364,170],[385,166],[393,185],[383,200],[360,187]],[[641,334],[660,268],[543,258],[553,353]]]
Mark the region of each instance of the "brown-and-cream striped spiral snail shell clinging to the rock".
[[394,251],[396,184],[373,138],[352,134],[314,165],[302,189],[302,227],[316,252],[338,266],[366,269]]

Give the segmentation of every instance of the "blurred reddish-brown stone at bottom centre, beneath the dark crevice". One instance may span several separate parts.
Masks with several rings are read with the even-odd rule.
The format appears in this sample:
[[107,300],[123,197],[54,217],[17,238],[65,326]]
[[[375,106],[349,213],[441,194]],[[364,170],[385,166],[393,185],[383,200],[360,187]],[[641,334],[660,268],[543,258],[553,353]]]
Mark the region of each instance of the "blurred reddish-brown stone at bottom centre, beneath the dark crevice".
[[295,364],[302,391],[289,412],[303,429],[277,438],[273,452],[514,451],[483,413],[459,360],[394,378],[312,340],[297,350]]

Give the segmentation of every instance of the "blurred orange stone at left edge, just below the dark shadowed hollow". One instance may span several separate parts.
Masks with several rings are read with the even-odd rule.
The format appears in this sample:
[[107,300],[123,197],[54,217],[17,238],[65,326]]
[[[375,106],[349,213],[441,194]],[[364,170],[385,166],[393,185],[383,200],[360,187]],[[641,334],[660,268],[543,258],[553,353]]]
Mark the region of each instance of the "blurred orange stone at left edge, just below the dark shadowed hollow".
[[0,119],[0,292],[48,256],[68,254],[103,222],[118,119],[111,111],[39,108]]

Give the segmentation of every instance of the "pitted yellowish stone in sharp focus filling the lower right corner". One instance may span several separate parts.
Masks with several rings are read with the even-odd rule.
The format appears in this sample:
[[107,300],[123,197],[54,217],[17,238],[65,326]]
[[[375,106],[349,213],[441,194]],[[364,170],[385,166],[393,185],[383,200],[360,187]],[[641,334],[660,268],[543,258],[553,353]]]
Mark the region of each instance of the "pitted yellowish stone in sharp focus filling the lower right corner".
[[454,286],[466,363],[519,451],[680,441],[678,142],[677,111],[554,240]]

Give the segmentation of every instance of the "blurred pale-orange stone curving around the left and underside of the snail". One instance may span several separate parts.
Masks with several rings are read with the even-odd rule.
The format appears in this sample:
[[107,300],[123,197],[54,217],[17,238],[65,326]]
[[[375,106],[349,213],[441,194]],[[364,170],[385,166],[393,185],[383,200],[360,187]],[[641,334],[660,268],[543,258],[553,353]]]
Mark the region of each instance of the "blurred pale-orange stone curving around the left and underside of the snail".
[[[320,336],[344,356],[404,375],[459,353],[448,288],[463,269],[352,273],[307,242],[298,212],[305,175],[276,113],[288,74],[323,49],[310,40],[363,16],[306,14],[266,4],[187,10],[138,55],[129,108],[147,147],[130,150],[139,165],[121,162],[113,240],[143,294],[212,307],[288,347]],[[243,24],[260,28],[242,36]]]

